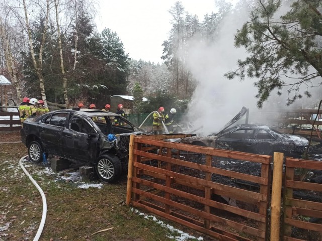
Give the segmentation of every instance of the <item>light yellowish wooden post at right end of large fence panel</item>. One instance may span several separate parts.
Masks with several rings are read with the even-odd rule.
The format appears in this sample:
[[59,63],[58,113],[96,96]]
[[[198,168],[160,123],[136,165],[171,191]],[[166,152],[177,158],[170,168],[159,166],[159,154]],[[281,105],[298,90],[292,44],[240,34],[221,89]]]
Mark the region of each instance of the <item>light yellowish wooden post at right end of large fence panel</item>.
[[280,240],[281,191],[284,154],[274,152],[274,169],[271,200],[271,241]]

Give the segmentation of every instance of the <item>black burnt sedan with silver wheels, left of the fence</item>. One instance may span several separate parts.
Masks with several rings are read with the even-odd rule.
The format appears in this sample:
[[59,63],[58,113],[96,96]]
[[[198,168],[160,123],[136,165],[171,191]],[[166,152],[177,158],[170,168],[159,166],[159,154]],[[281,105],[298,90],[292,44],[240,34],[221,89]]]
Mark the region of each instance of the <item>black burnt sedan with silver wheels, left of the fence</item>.
[[[115,118],[121,125],[116,125]],[[141,135],[143,131],[121,115],[74,108],[28,117],[21,140],[33,162],[43,161],[44,154],[86,162],[95,166],[101,180],[113,182],[127,169],[132,134]]]

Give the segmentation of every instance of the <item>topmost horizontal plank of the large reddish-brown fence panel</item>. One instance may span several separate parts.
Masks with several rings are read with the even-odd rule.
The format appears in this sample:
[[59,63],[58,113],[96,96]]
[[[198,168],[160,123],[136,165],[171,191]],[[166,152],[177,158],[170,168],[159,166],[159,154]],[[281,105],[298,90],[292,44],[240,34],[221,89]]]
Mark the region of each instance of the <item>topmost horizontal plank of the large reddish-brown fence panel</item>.
[[136,137],[135,142],[147,145],[154,145],[163,148],[173,148],[181,151],[186,152],[196,152],[202,153],[205,155],[211,155],[216,157],[225,157],[237,160],[244,160],[256,163],[264,163],[269,164],[271,156],[266,155],[258,155],[258,154],[248,154],[243,152],[234,152],[234,151],[226,151],[222,149],[210,148],[210,147],[200,147],[200,146],[192,146],[188,144],[182,143],[171,143],[171,142],[163,142],[163,141],[156,141],[150,139],[144,139],[143,137]]

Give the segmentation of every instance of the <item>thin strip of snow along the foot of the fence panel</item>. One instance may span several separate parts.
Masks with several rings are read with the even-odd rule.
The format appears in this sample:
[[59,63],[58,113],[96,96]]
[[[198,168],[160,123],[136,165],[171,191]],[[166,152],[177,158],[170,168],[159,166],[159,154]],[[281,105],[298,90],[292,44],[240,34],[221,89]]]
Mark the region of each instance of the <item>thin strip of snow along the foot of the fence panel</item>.
[[[177,228],[174,228],[173,226],[171,226],[171,225],[169,225],[169,224],[164,223],[163,221],[157,220],[157,218],[156,218],[155,216],[147,215],[147,214],[142,213],[142,212],[140,212],[139,210],[134,209],[134,208],[131,208],[131,211],[132,211],[132,212],[134,212],[134,213],[137,213],[137,214],[138,214],[138,215],[140,215],[140,216],[143,216],[143,217],[144,217],[144,218],[146,218],[146,219],[149,219],[149,220],[153,220],[153,221],[155,221],[157,224],[159,224],[159,225],[160,225],[160,226],[162,226],[162,227],[167,228],[167,229],[168,229],[169,231],[171,231],[172,233],[176,233],[176,235],[175,235],[175,236],[173,236],[173,235],[169,235],[169,236],[168,236],[169,238],[172,238],[172,239],[174,239],[174,240],[176,240],[176,241],[185,241],[185,240],[187,240],[188,238],[194,238],[194,239],[197,239],[197,240],[203,240],[203,237],[199,236],[199,237],[197,238],[197,237],[195,237],[195,236],[192,236],[192,235],[190,235],[189,233],[183,232],[183,231],[181,231],[181,230],[179,230],[179,229],[177,229]],[[178,233],[179,235],[177,235],[177,233]]]

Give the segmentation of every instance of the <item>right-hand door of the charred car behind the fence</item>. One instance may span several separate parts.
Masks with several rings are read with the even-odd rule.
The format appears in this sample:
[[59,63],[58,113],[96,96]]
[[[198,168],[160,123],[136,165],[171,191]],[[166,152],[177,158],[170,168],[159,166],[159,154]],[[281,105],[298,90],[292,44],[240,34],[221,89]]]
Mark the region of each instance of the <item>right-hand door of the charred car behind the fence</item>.
[[255,136],[257,154],[273,155],[275,151],[280,150],[276,139],[267,131],[258,129]]

